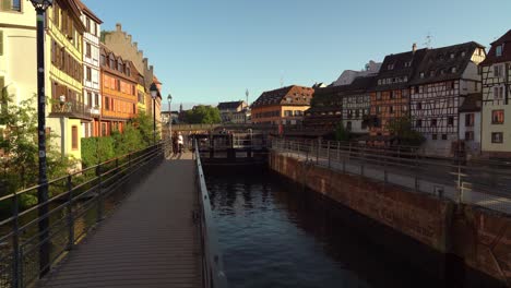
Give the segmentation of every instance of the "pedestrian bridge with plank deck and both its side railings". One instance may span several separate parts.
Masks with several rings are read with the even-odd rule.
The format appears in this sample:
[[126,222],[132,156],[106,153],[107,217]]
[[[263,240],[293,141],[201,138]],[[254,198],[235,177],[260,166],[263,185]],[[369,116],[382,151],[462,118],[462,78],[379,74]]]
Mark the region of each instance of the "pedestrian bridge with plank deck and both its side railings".
[[227,287],[198,152],[158,144],[48,189],[0,199],[0,287]]

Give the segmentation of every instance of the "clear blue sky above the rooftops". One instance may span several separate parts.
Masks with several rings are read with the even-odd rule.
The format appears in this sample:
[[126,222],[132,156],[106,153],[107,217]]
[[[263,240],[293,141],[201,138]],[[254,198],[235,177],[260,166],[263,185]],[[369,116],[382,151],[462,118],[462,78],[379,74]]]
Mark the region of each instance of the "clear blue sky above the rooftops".
[[[173,104],[245,99],[419,48],[484,46],[511,28],[510,0],[83,0],[139,43]],[[153,4],[150,4],[153,3]],[[174,106],[174,105],[173,105]],[[166,106],[165,106],[166,107]],[[173,107],[175,109],[176,106]]]

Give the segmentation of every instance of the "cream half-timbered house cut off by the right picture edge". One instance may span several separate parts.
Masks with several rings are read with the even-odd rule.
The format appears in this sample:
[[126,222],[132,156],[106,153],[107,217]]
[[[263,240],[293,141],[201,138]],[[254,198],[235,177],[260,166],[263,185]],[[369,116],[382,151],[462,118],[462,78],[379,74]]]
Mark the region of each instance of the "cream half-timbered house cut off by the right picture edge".
[[491,44],[480,63],[483,154],[511,157],[511,29]]

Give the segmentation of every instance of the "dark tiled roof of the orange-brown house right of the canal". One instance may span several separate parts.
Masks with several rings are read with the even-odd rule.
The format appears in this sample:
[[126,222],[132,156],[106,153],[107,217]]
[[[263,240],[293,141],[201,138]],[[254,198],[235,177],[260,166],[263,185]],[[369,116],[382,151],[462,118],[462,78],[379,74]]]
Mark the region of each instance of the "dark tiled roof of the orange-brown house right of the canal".
[[[376,86],[376,91],[401,89],[408,85],[414,72],[423,61],[427,49],[418,49],[415,52],[402,52],[396,55],[388,55],[383,60],[380,72],[377,76],[378,81],[392,80],[392,83],[381,84]],[[393,81],[396,80],[396,81]]]

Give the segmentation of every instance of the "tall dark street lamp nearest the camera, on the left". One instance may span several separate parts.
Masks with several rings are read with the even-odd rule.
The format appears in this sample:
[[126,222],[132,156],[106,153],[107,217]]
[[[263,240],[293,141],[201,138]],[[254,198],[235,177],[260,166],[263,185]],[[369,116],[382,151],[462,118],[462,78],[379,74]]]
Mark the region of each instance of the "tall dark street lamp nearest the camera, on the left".
[[46,99],[45,99],[45,14],[51,0],[31,0],[37,15],[37,147],[39,179],[37,202],[39,216],[39,276],[49,271],[48,178],[46,176]]

